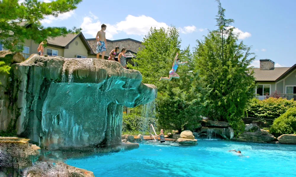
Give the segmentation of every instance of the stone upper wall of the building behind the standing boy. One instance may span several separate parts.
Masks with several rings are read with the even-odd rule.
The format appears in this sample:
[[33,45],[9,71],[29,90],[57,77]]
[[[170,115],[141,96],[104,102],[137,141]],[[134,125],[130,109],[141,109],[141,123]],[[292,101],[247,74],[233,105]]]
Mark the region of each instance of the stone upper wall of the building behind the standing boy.
[[[91,49],[94,51],[94,53],[96,53],[96,40],[88,40],[87,41],[89,43],[89,45],[91,46]],[[144,47],[144,45],[138,43],[138,42],[134,42],[131,40],[125,40],[125,41],[118,41],[118,42],[107,42],[107,50],[105,52],[105,56],[109,56],[109,53],[111,52],[111,50],[115,49],[115,46],[119,46],[119,49],[121,51],[121,49],[123,47],[126,47],[127,50],[131,50],[133,52],[138,52],[139,47],[142,48]]]

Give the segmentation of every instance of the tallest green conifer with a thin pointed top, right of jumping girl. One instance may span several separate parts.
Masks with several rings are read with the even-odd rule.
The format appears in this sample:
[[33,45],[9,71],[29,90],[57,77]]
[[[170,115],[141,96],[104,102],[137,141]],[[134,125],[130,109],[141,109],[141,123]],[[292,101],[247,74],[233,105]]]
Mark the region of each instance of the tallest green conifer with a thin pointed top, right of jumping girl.
[[[209,31],[204,40],[197,40],[194,71],[199,71],[203,81],[212,89],[208,116],[229,122],[238,134],[244,129],[241,117],[255,89],[254,73],[249,68],[255,56],[251,57],[254,55],[250,53],[251,47],[238,42],[233,28],[227,27],[233,20],[225,19],[225,9],[220,2],[218,7],[217,25],[221,26],[218,30]],[[223,34],[226,35],[222,37]]]

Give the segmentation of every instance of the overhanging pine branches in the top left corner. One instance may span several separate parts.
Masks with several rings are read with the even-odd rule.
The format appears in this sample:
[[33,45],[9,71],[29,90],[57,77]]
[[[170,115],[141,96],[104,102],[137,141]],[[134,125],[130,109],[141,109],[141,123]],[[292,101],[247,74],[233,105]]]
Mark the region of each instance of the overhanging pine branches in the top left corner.
[[[48,37],[80,32],[82,29],[76,27],[73,30],[67,30],[66,27],[44,27],[40,21],[49,15],[57,17],[59,14],[74,10],[81,1],[56,0],[46,3],[37,0],[25,0],[21,4],[18,3],[18,0],[0,1],[1,43],[11,51],[21,51],[25,39],[41,42]],[[29,24],[29,26],[25,24]]]

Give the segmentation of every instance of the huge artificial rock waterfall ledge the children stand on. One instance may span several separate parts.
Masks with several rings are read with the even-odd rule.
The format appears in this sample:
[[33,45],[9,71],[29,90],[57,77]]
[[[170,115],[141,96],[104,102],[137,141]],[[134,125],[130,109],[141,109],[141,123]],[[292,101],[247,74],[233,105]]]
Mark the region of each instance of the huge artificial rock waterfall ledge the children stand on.
[[0,76],[0,130],[15,125],[48,149],[119,145],[123,106],[157,95],[139,71],[110,60],[33,54]]

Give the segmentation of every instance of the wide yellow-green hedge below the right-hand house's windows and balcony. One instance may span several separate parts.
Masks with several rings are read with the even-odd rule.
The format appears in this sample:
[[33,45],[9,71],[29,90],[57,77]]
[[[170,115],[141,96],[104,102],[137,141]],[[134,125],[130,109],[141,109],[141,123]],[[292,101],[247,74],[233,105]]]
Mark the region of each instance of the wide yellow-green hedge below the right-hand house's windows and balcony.
[[276,119],[291,107],[296,107],[296,101],[273,97],[263,100],[253,98],[246,105],[246,114],[247,117]]

